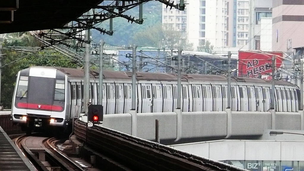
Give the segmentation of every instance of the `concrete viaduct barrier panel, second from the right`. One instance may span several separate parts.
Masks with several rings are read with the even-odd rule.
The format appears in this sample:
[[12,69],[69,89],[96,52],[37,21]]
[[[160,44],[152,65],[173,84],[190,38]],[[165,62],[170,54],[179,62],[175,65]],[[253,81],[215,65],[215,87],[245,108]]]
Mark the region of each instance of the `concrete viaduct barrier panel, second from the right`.
[[262,135],[271,129],[270,112],[232,112],[232,136]]

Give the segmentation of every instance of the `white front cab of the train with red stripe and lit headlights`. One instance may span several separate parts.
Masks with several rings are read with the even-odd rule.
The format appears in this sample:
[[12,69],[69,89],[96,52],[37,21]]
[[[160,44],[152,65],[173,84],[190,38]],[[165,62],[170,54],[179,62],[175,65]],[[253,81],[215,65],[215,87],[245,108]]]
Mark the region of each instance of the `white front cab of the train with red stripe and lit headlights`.
[[11,119],[23,130],[67,126],[66,75],[54,68],[31,67],[18,73]]

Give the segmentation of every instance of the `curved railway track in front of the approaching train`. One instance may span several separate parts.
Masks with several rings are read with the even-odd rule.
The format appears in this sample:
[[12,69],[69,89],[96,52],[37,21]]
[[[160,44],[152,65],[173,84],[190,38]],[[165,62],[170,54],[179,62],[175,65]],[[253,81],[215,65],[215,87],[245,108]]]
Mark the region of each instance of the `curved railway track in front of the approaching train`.
[[[97,171],[90,165],[79,164],[60,150],[56,149],[56,138],[40,136],[21,136],[15,144],[37,171]],[[77,158],[74,158],[77,159]],[[87,164],[87,163],[85,163]]]

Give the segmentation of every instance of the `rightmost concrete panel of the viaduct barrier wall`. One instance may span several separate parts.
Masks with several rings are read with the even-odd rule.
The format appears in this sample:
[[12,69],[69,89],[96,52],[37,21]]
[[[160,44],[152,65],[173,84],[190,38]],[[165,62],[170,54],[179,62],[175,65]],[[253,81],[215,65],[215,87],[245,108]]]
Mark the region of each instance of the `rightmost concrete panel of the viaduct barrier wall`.
[[300,130],[301,115],[298,112],[276,112],[275,128],[284,130]]

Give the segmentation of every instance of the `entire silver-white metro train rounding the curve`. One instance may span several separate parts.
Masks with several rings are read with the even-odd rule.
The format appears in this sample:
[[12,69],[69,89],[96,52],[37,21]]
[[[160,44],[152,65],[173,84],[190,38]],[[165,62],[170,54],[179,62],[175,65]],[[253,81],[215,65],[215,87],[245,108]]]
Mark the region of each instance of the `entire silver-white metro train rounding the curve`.
[[[33,66],[17,74],[12,100],[12,121],[22,128],[51,125],[66,127],[71,118],[83,112],[84,70]],[[90,72],[89,102],[98,104],[98,72]],[[289,82],[275,82],[278,112],[299,109],[299,88]],[[177,107],[177,75],[136,73],[136,92],[132,92],[132,72],[103,72],[102,105],[104,114],[131,110],[136,94],[138,113],[172,112]],[[182,74],[181,110],[223,111],[227,107],[227,78],[223,75]],[[271,82],[258,78],[231,79],[233,111],[268,111]]]

